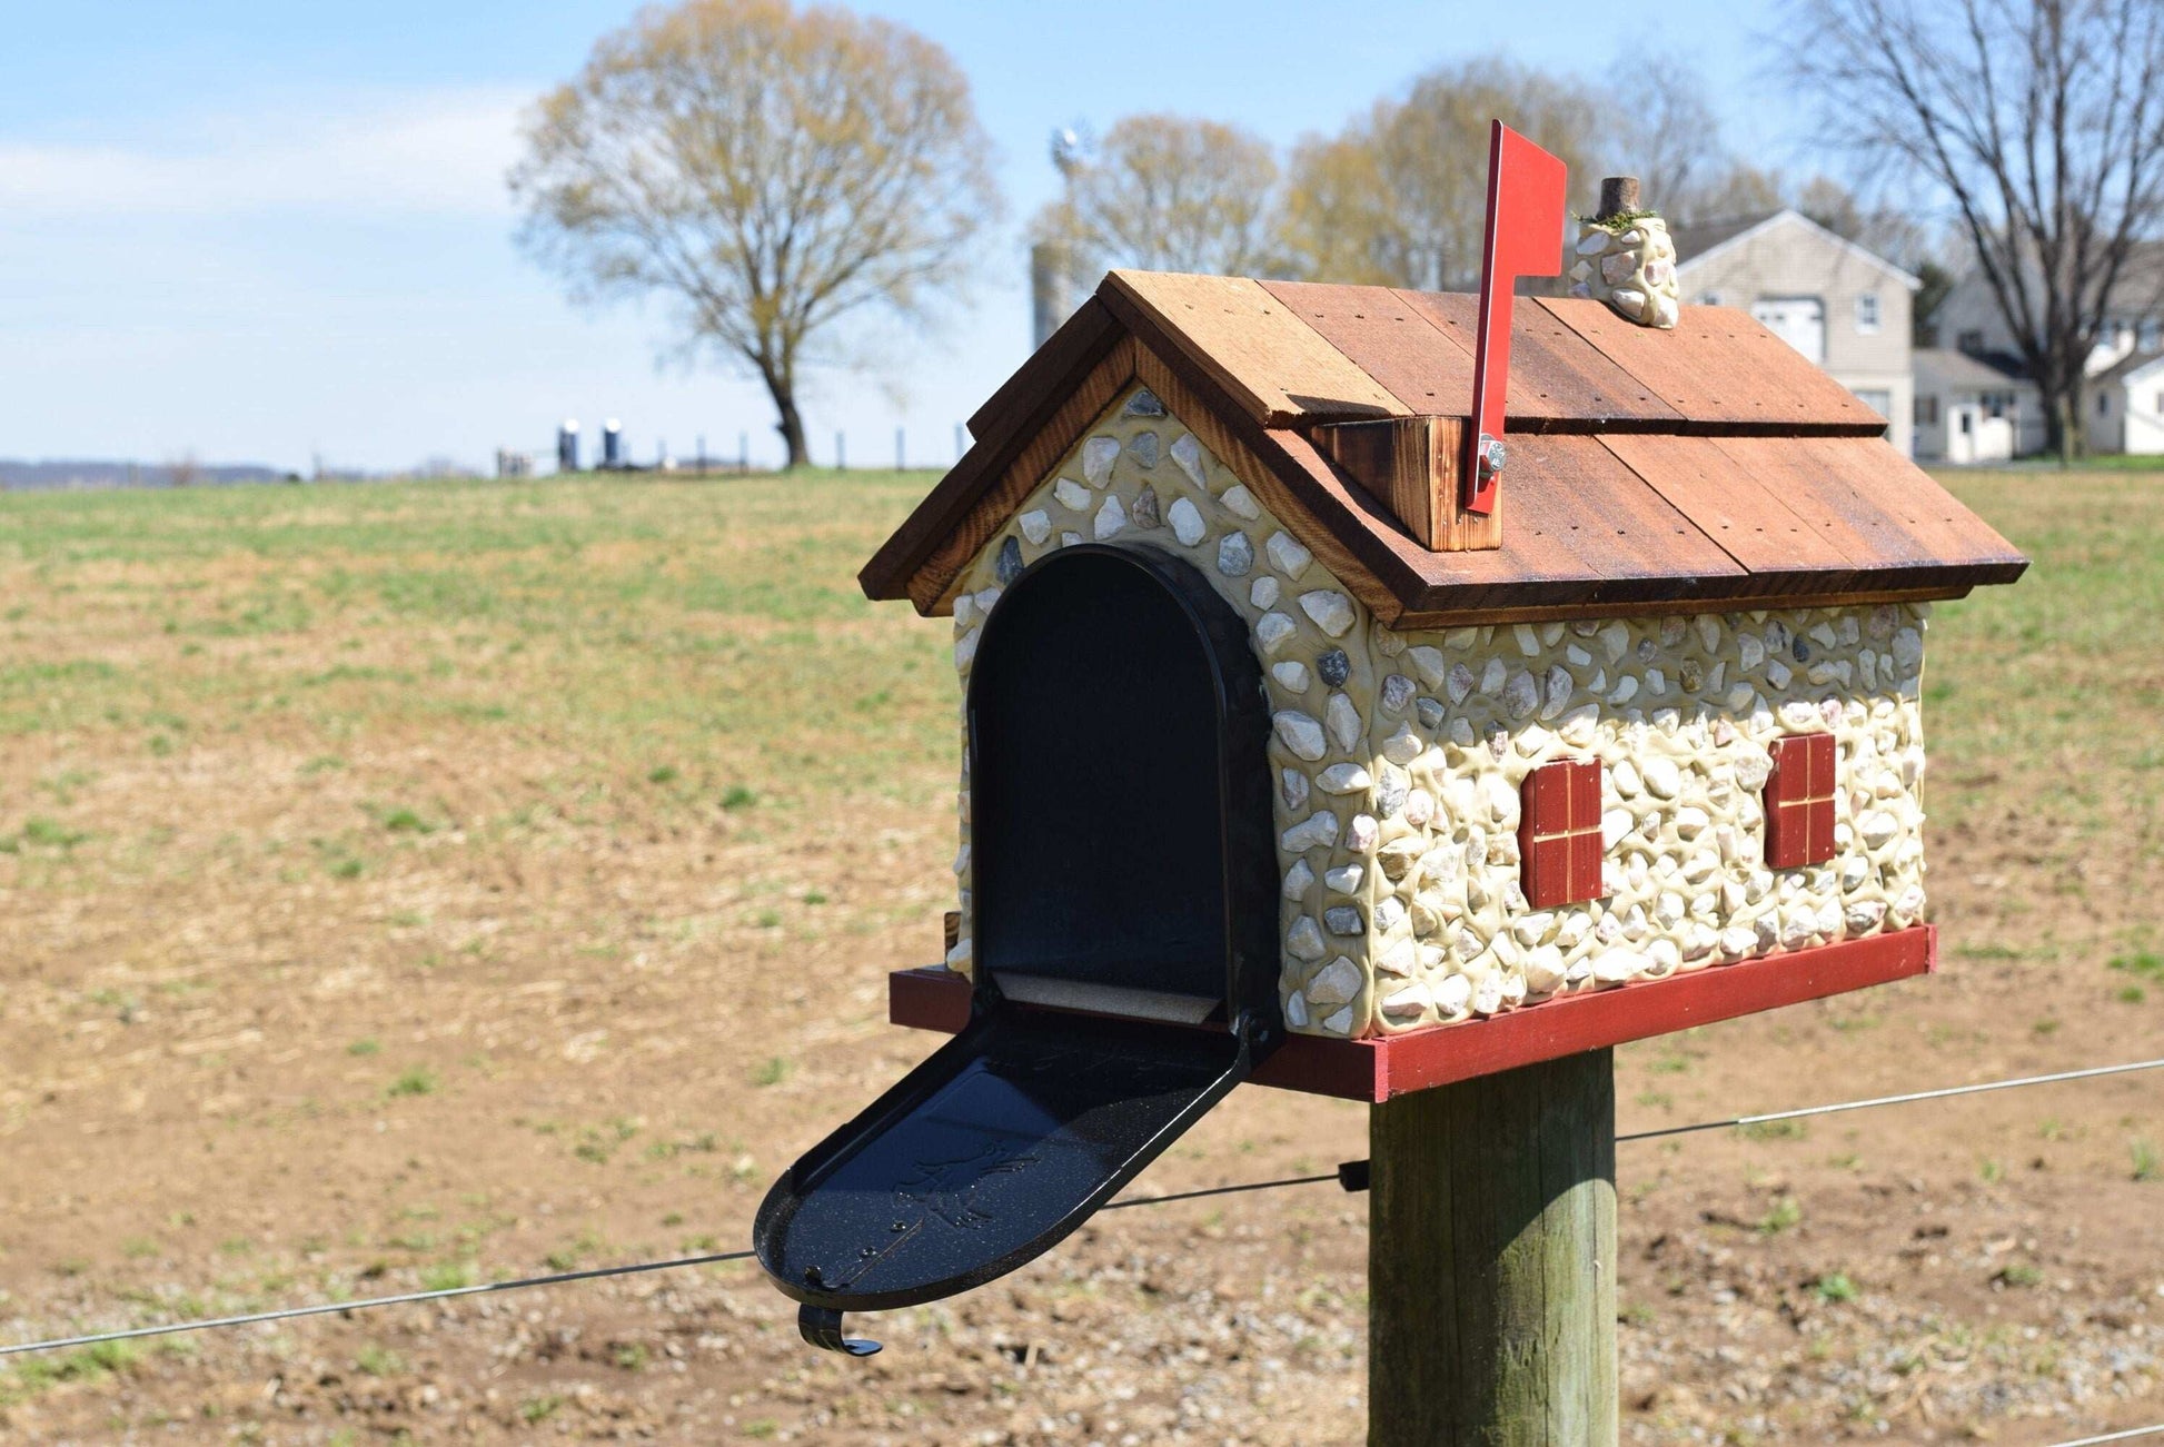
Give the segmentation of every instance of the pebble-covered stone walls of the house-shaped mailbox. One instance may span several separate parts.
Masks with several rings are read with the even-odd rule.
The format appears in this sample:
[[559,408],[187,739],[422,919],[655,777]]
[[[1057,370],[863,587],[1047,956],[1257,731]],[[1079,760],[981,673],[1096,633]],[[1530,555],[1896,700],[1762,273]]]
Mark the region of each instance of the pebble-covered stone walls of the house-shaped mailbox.
[[[1138,387],[963,571],[963,681],[1002,580],[1078,541],[1186,556],[1255,629],[1292,1030],[1454,1023],[1922,915],[1928,606],[1398,634]],[[1766,746],[1807,731],[1837,740],[1837,854],[1770,872]],[[1558,757],[1604,766],[1608,895],[1532,911],[1517,887],[1519,783]],[[967,776],[961,833],[963,939],[948,967],[969,973]]]

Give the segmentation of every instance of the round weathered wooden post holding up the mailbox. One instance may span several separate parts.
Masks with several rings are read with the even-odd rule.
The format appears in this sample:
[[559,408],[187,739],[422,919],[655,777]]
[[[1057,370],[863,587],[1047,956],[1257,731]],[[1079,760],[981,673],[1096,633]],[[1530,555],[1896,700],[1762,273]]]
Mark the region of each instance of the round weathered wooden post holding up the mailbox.
[[1370,1447],[1614,1447],[1614,1058],[1368,1118]]

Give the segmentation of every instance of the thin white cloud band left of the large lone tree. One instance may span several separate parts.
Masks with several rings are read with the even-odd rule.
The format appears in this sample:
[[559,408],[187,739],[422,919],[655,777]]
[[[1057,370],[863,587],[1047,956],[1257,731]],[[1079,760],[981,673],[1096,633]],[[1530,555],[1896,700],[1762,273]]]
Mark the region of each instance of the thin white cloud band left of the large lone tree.
[[121,143],[0,141],[0,214],[504,214],[535,91],[359,95],[199,117]]

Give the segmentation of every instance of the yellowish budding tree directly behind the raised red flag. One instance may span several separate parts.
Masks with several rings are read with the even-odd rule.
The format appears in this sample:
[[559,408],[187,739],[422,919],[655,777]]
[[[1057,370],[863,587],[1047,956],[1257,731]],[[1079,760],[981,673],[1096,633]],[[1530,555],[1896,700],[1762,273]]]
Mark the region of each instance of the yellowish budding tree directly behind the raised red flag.
[[1487,223],[1487,128],[1502,117],[1562,158],[1593,210],[1599,91],[1502,56],[1448,65],[1381,99],[1337,136],[1303,141],[1285,188],[1285,253],[1301,275],[1472,290]]

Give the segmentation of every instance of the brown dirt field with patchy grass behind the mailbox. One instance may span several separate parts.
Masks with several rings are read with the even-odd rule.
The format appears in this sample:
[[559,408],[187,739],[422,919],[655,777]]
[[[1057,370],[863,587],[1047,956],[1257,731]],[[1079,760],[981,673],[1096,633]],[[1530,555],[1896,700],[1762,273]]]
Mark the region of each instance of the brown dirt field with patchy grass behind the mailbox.
[[[0,1341],[747,1244],[931,1049],[924,476],[0,497]],[[2164,1053],[2164,482],[1952,482],[1945,971],[1632,1047],[1621,1127]],[[1143,1190],[1327,1170],[1249,1088]],[[2164,1073],[1621,1149],[1625,1438],[2164,1421]],[[1121,1211],[799,1345],[727,1265],[0,1365],[0,1438],[1352,1443],[1365,1203]]]

